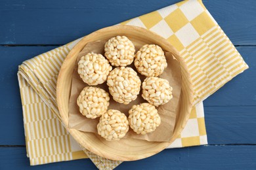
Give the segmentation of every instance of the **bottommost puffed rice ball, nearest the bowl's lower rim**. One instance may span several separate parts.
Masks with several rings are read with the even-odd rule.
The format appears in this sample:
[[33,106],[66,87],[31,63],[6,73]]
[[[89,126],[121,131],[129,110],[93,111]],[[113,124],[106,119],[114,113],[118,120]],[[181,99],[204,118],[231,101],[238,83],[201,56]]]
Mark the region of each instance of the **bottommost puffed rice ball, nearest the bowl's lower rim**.
[[98,135],[107,141],[119,141],[129,130],[129,124],[125,114],[110,109],[100,117],[97,128]]

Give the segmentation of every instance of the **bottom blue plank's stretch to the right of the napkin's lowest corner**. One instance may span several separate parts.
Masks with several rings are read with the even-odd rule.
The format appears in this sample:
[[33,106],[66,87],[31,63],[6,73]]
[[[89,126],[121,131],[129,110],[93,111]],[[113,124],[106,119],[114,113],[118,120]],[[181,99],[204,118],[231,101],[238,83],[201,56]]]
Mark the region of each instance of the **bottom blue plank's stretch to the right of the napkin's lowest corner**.
[[255,146],[170,149],[148,159],[125,162],[117,169],[255,169],[255,149]]

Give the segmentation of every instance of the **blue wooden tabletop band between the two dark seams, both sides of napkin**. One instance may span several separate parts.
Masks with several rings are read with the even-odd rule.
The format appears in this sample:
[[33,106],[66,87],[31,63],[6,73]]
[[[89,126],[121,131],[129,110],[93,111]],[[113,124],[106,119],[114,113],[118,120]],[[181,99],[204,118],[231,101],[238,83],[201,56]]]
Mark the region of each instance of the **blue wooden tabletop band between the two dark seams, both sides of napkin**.
[[[4,119],[0,124],[1,144],[25,144],[24,131],[22,124],[22,107],[20,104],[20,92],[18,90],[18,80],[16,73],[18,65],[22,61],[32,58],[43,52],[47,52],[55,48],[55,46],[0,46],[0,116]],[[256,75],[255,64],[256,50],[254,47],[239,47],[240,52],[248,61],[251,69],[245,71],[242,75],[234,78],[226,84],[219,92],[213,94],[205,101],[205,106],[236,106],[236,105],[255,105],[255,86]],[[7,67],[8,65],[8,67]],[[217,108],[217,110],[216,110]],[[251,137],[249,129],[255,128],[255,124],[251,122],[255,119],[255,107],[206,107],[206,126],[209,135],[209,143],[211,144],[230,144],[230,143],[255,143],[256,134]],[[209,112],[209,113],[208,113]],[[216,116],[217,115],[217,116]],[[221,119],[221,120],[220,120]],[[219,127],[226,126],[226,120],[230,121],[228,127],[220,130]],[[237,124],[242,120],[243,126]],[[246,124],[245,122],[248,122]],[[216,126],[216,122],[220,126]],[[216,126],[216,127],[215,127]],[[6,128],[9,127],[9,128]],[[238,131],[239,133],[234,133]],[[220,137],[215,137],[219,134]]]

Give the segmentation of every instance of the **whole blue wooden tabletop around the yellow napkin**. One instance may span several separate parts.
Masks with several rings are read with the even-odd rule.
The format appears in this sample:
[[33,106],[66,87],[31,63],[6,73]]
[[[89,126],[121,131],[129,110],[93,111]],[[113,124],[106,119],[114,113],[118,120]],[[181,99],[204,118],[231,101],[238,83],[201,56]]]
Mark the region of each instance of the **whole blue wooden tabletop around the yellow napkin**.
[[[95,169],[90,160],[30,167],[16,73],[26,59],[179,0],[0,1],[0,169]],[[205,100],[209,144],[117,169],[256,169],[256,1],[204,0],[250,69]]]

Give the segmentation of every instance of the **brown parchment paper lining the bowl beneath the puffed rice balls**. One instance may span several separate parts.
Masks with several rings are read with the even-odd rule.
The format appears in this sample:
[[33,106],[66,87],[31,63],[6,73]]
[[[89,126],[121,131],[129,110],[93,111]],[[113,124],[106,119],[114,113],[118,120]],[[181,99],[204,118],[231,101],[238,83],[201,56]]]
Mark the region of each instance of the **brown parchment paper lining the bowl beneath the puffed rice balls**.
[[[94,52],[97,54],[102,54],[104,56],[104,44],[106,41],[95,41],[95,42],[89,42],[86,44],[86,46],[83,48],[83,50],[78,54],[77,56],[77,62],[82,56],[85,56],[85,54],[89,52]],[[135,44],[136,50],[138,50],[142,45],[136,42],[133,42]],[[179,97],[181,94],[181,67],[179,65],[179,62],[177,59],[173,58],[173,55],[171,52],[165,52],[165,56],[167,59],[167,68],[164,70],[163,74],[160,76],[161,78],[165,78],[169,81],[169,84],[173,87],[173,99],[166,103],[165,105],[161,105],[160,107],[157,107],[158,113],[161,117],[161,124],[159,127],[156,128],[156,130],[153,133],[148,133],[146,135],[137,135],[133,131],[133,129],[129,129],[125,137],[135,138],[135,139],[142,139],[146,141],[159,141],[159,142],[167,142],[171,140],[171,137],[173,135],[173,129],[175,126],[175,119],[176,119],[176,112],[178,109],[179,104]],[[74,73],[72,76],[72,89],[70,94],[70,103],[69,103],[69,122],[68,126],[73,129],[77,129],[79,131],[85,131],[85,132],[92,132],[97,133],[96,126],[98,124],[99,118],[96,119],[89,119],[83,116],[79,112],[79,107],[77,106],[77,97],[81,90],[85,88],[85,86],[88,86],[83,80],[79,77],[79,74],[77,73],[77,62],[74,67]],[[131,63],[128,67],[132,67],[135,71],[137,69],[134,66],[134,63]],[[114,69],[115,67],[113,67]],[[143,82],[145,76],[140,75],[140,73],[137,71],[138,75],[140,76],[141,82]],[[108,91],[108,86],[106,85],[106,82],[104,84],[97,85],[97,87],[100,87],[106,92]],[[146,102],[142,96],[141,96],[142,90],[140,89],[140,93],[135,101],[132,101],[129,103],[129,105],[123,105],[121,103],[117,103],[112,99],[112,95],[110,95],[110,106],[108,109],[117,109],[123,112],[128,116],[128,111],[131,109],[133,105],[137,105],[139,103]]]

